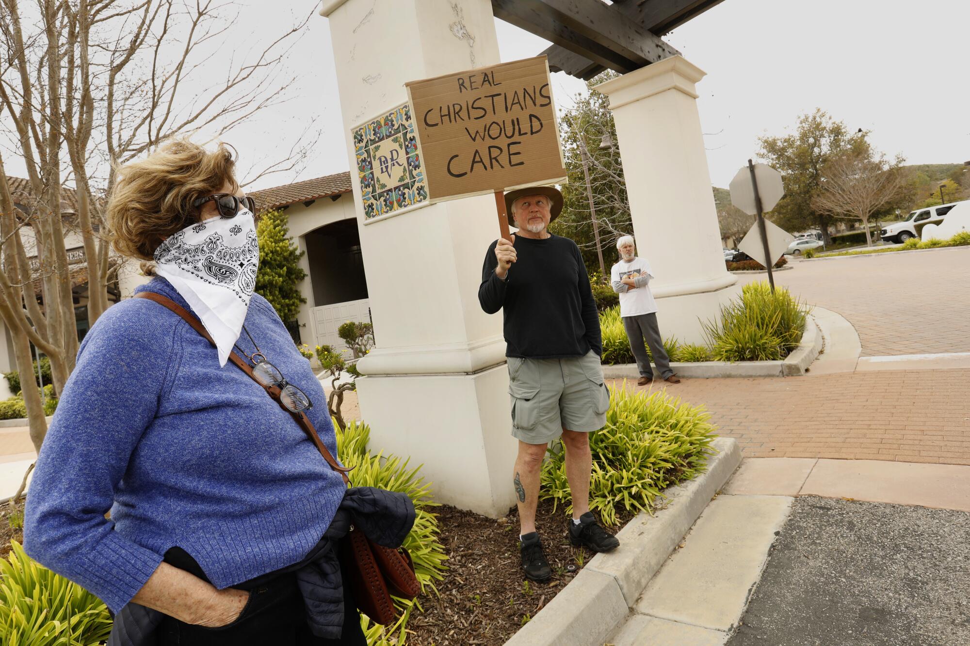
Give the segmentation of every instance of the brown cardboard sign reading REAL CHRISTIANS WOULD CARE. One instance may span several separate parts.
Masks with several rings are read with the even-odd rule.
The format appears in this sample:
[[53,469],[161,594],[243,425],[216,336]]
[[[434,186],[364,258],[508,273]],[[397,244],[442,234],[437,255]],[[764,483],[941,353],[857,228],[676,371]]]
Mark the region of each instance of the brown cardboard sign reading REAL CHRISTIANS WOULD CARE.
[[406,86],[431,200],[566,178],[545,56]]

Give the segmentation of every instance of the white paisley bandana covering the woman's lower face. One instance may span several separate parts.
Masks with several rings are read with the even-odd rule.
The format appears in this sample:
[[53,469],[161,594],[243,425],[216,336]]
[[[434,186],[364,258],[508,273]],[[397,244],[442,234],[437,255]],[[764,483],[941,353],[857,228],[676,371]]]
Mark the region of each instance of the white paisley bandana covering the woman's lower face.
[[256,288],[259,244],[252,212],[213,217],[169,237],[155,249],[156,273],[178,290],[202,319],[225,366],[240,338]]

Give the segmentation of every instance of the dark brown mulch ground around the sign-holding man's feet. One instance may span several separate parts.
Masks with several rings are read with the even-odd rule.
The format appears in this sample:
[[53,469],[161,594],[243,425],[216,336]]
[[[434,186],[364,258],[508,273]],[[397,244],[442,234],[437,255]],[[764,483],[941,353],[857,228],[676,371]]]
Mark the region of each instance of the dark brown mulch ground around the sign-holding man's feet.
[[[536,527],[553,577],[548,583],[527,585],[515,509],[498,521],[449,506],[438,507],[436,513],[448,569],[437,584],[440,597],[421,598],[424,612],[415,611],[407,623],[407,643],[414,646],[503,644],[594,556],[569,544],[562,505],[554,512],[552,501],[539,502]],[[630,518],[632,514],[622,516],[621,527]]]

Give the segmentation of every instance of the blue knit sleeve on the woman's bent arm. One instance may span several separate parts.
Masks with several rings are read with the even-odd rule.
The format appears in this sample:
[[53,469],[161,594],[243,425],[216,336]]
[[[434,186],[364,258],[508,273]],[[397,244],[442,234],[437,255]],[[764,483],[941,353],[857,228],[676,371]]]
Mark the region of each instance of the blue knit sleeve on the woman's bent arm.
[[24,518],[27,554],[115,612],[162,561],[105,518],[169,378],[178,326],[158,309],[125,301],[91,328],[41,447]]

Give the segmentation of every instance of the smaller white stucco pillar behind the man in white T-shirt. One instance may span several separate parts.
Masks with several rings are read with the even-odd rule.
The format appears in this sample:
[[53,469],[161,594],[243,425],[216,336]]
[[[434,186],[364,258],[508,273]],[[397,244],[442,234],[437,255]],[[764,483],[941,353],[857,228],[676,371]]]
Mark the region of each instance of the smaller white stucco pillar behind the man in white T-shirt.
[[695,83],[683,56],[597,85],[616,121],[637,252],[649,260],[664,339],[703,341],[700,321],[739,292],[721,252]]

